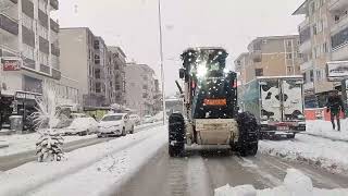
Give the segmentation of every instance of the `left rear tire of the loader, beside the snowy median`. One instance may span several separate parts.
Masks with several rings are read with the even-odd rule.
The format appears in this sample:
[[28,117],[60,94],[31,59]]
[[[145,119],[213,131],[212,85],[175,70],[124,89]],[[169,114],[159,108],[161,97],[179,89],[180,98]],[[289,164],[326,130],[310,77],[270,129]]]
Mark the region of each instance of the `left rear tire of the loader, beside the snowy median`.
[[181,113],[173,113],[169,119],[169,155],[178,157],[185,147],[185,120]]

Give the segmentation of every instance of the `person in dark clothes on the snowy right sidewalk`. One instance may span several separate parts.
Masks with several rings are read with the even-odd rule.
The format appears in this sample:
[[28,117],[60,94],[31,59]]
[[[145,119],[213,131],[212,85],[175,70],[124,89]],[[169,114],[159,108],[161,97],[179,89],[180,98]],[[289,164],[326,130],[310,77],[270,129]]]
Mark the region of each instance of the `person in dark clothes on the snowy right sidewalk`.
[[327,112],[331,112],[331,123],[333,124],[333,130],[336,128],[335,125],[335,118],[337,120],[337,128],[340,131],[340,122],[339,122],[339,113],[340,111],[344,111],[344,103],[338,96],[338,91],[331,91],[327,98]]

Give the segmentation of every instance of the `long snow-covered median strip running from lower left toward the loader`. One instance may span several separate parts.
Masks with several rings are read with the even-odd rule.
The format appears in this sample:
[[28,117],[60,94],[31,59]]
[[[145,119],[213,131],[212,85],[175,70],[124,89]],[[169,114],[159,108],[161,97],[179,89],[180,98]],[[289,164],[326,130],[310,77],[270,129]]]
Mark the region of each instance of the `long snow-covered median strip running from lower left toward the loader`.
[[[163,130],[163,126],[127,135],[125,137],[122,137],[122,139],[114,139],[108,143],[101,143],[95,146],[79,148],[66,154],[65,156],[67,157],[67,160],[65,161],[28,162],[18,168],[5,171],[0,174],[0,196],[27,195],[28,192],[35,191],[38,187],[42,187],[45,184],[59,181],[64,176],[78,173],[78,171],[83,171],[84,169],[88,169],[88,167],[95,164],[96,162],[108,158],[109,155],[126,150],[127,148],[141,143],[142,140],[151,138],[151,136],[156,134],[166,133],[159,132],[161,130]],[[164,138],[162,138],[162,140],[165,142],[165,136]],[[153,140],[151,142],[153,143]],[[137,155],[147,155],[147,148],[141,147],[138,150],[140,149],[142,150]],[[134,160],[138,161],[137,159]],[[94,174],[90,177],[94,177]],[[89,180],[91,180],[90,177]],[[109,180],[110,177],[107,177],[104,181]],[[75,187],[77,188],[79,186],[76,185]],[[98,186],[87,185],[87,187],[96,188]],[[80,188],[86,188],[86,186]]]

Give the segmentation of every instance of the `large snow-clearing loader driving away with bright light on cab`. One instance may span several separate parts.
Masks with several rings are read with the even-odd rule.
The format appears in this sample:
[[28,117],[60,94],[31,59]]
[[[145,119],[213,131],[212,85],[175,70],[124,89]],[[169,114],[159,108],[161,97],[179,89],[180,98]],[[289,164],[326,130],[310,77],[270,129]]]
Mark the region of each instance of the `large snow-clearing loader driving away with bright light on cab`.
[[176,85],[184,99],[184,112],[169,118],[169,154],[183,155],[192,144],[227,146],[240,156],[258,151],[259,124],[249,112],[238,113],[237,74],[226,68],[223,48],[189,48],[182,54]]

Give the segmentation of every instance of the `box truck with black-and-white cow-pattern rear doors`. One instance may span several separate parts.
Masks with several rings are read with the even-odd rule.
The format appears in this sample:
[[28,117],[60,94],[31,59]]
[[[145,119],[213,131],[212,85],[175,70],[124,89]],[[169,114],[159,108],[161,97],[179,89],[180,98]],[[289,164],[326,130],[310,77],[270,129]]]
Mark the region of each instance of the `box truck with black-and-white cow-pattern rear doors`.
[[247,83],[239,106],[260,124],[260,138],[294,138],[306,131],[303,77],[263,76]]

